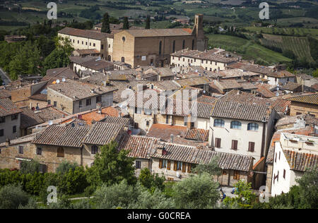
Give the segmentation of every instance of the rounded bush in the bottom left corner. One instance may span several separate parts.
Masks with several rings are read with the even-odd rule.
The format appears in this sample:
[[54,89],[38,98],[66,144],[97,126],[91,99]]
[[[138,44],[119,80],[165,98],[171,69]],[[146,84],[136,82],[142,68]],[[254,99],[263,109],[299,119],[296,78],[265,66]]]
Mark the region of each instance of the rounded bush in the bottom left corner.
[[0,209],[17,209],[28,201],[28,194],[20,186],[7,185],[0,189]]

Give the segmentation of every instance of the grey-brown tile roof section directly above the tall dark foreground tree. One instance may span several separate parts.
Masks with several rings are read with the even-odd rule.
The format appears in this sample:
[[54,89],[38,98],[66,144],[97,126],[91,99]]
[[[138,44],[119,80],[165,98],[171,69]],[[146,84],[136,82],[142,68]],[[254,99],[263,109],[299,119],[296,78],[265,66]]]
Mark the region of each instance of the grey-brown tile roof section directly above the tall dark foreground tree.
[[123,124],[97,122],[88,131],[83,143],[94,145],[105,145],[115,140],[122,128]]

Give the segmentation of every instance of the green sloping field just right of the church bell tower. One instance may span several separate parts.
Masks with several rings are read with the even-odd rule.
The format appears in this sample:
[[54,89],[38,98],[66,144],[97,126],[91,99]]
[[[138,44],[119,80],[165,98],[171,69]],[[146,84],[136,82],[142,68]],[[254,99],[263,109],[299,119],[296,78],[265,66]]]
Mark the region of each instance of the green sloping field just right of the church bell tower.
[[211,47],[221,47],[230,52],[237,52],[237,54],[243,56],[243,59],[254,59],[264,65],[291,61],[282,54],[273,52],[271,49],[256,44],[252,40],[229,35],[208,35],[208,39],[208,44]]

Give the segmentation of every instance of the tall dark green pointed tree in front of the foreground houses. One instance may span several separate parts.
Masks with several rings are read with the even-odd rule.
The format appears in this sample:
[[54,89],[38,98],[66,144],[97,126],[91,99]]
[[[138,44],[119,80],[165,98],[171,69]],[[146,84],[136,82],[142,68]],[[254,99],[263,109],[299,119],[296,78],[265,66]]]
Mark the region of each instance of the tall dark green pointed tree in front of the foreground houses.
[[117,150],[114,141],[103,145],[95,155],[93,167],[88,169],[88,182],[93,186],[105,183],[110,186],[126,179],[129,184],[136,183],[134,158],[127,157],[128,150]]

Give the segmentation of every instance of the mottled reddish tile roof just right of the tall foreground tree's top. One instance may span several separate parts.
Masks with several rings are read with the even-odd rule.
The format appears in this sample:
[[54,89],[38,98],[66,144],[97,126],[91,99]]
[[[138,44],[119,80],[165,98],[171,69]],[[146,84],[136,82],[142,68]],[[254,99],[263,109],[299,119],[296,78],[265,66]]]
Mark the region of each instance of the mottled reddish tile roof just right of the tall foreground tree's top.
[[141,159],[150,159],[151,150],[157,147],[160,138],[147,137],[143,135],[126,135],[119,143],[119,150],[130,150],[128,156]]

